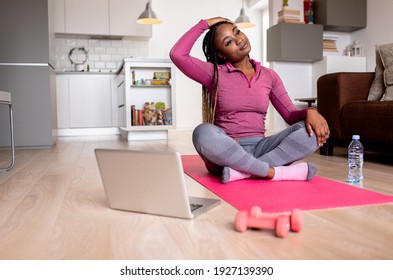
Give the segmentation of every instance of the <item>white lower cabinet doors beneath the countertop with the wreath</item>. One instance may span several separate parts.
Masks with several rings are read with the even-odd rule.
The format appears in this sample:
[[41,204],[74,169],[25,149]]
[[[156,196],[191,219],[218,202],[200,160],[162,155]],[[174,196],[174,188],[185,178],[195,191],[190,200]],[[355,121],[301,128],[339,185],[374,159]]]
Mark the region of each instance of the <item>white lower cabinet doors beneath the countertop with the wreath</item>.
[[[59,128],[105,128],[117,125],[110,74],[58,74]],[[116,103],[115,103],[116,104]]]

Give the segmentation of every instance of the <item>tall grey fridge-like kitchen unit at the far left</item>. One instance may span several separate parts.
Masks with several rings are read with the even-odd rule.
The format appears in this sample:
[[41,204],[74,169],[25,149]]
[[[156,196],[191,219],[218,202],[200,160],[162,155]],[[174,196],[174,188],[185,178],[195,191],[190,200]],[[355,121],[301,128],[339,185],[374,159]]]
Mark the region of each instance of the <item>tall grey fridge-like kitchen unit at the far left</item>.
[[[0,0],[0,89],[11,92],[15,146],[56,143],[54,0]],[[0,108],[0,147],[10,146]]]

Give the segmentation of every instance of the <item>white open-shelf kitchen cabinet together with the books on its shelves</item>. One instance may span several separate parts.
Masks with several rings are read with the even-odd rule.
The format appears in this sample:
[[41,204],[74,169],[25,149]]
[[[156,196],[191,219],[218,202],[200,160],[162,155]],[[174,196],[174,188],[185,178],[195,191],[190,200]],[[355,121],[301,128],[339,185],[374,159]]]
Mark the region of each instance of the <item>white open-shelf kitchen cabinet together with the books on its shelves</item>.
[[[127,58],[123,69],[124,106],[119,103],[118,107],[123,113],[121,122],[124,126],[120,127],[120,134],[127,140],[167,139],[168,130],[176,126],[175,68],[172,62],[169,59]],[[164,124],[146,123],[146,102],[165,103],[166,110],[153,112],[153,120],[159,119],[162,113]]]

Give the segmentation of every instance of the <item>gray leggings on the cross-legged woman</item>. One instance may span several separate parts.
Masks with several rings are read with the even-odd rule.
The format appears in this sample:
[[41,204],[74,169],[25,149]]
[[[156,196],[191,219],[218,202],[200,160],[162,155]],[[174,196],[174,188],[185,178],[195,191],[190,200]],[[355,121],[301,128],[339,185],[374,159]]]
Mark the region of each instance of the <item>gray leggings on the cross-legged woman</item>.
[[192,135],[195,149],[212,175],[221,176],[224,166],[265,177],[269,166],[282,166],[303,159],[319,147],[304,121],[268,137],[249,137],[235,141],[221,128],[202,123]]

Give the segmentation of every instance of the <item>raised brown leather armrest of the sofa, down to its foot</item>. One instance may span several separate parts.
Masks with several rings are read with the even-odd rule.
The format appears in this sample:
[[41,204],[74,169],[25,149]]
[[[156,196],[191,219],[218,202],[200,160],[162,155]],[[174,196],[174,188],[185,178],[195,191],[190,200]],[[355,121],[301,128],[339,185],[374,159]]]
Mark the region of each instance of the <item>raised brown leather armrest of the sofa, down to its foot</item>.
[[330,73],[318,79],[318,111],[329,124],[331,138],[341,138],[342,107],[355,100],[367,100],[373,80],[374,72]]

